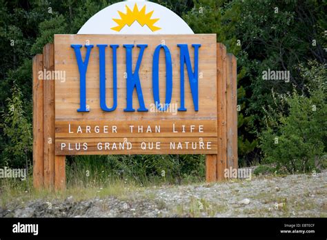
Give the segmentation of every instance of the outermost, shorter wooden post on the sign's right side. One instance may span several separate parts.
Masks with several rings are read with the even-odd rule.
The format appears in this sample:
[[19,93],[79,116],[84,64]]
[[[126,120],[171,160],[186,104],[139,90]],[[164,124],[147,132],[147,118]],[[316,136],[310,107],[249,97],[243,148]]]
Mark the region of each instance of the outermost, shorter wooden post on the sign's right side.
[[233,118],[232,112],[235,108],[232,101],[232,54],[228,53],[226,57],[227,63],[227,83],[226,83],[226,123],[227,123],[227,168],[234,168],[233,156],[232,156],[232,135],[233,135]]

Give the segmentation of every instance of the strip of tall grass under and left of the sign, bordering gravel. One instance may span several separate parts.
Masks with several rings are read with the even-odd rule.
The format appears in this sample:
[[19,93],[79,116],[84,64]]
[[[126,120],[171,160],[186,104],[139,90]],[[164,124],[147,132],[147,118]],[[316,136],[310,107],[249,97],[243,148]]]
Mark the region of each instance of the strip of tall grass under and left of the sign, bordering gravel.
[[204,181],[204,155],[84,155],[68,157],[67,189],[61,192],[35,190],[32,168],[26,181],[0,179],[0,206],[32,199],[89,199],[125,197],[146,186],[188,184]]

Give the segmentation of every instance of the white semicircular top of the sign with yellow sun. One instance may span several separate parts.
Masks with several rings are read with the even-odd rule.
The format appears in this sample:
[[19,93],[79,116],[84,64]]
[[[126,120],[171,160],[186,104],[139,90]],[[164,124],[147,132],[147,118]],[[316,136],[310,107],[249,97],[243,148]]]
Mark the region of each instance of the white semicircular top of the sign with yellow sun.
[[121,1],[97,12],[77,34],[194,34],[175,12],[150,1]]

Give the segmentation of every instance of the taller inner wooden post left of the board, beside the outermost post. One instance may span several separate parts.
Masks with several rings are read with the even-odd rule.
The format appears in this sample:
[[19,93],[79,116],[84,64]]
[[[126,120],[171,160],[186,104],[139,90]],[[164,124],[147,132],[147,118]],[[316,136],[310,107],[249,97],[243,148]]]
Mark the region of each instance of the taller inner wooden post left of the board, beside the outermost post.
[[[54,45],[43,47],[43,65],[46,71],[54,70]],[[43,81],[44,109],[44,186],[54,186],[54,80]]]

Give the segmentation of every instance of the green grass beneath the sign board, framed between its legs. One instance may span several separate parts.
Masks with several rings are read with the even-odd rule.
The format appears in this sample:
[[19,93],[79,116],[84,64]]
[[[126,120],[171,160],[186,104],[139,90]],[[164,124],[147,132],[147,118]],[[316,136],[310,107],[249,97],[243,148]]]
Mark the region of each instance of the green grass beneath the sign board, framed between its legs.
[[83,155],[70,160],[67,179],[71,186],[192,183],[204,181],[204,163],[203,155]]

